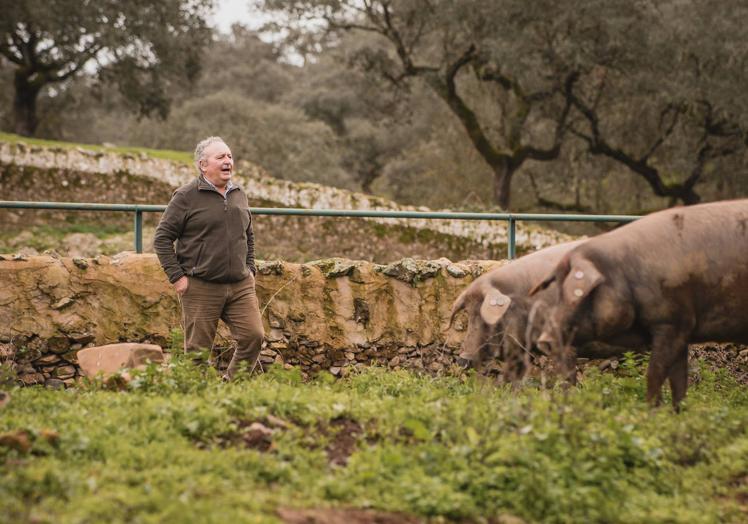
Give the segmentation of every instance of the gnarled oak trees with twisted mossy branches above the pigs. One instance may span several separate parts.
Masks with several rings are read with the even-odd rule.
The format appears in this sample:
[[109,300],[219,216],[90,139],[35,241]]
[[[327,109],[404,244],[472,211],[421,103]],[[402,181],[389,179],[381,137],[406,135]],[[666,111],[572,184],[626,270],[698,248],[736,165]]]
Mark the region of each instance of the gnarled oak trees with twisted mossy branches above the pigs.
[[737,93],[720,79],[746,80],[734,16],[745,6],[730,3],[737,11],[679,0],[265,0],[300,49],[376,35],[362,68],[395,88],[428,85],[490,167],[503,208],[518,170],[579,140],[657,196],[698,201],[705,170],[745,150]]

